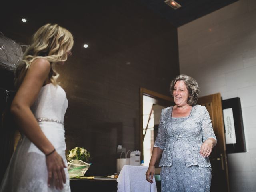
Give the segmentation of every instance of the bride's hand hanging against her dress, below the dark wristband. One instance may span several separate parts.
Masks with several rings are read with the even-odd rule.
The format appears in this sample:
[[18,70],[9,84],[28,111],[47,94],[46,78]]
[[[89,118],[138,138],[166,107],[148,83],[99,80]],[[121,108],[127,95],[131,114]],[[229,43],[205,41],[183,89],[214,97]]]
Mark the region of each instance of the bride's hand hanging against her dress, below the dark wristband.
[[66,183],[66,175],[64,172],[66,165],[62,157],[56,151],[46,156],[46,166],[48,170],[48,186],[52,183],[56,189],[62,189],[63,183]]

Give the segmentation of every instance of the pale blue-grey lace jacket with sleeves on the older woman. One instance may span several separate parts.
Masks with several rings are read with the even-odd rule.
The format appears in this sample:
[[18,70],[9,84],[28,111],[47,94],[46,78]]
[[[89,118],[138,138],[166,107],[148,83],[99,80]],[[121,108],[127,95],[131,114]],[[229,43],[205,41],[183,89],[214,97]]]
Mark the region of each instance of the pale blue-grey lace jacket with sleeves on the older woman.
[[[174,144],[180,141],[182,143],[180,151],[184,156],[186,166],[211,167],[209,158],[204,158],[199,153],[205,140],[208,138],[216,140],[207,109],[201,105],[193,106],[188,118],[182,118],[181,121],[176,119],[174,122],[172,122],[171,114],[172,107],[162,110],[154,143],[154,147],[163,150],[159,166],[172,166]],[[177,124],[176,121],[179,123]]]

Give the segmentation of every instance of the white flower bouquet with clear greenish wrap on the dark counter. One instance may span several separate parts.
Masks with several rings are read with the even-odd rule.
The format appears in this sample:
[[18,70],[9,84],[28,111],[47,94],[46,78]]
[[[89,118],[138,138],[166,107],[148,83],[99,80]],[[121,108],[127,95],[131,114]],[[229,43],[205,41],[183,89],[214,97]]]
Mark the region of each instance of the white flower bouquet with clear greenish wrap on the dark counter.
[[89,169],[91,163],[88,162],[90,153],[82,148],[76,147],[68,152],[68,174],[70,178],[80,178]]

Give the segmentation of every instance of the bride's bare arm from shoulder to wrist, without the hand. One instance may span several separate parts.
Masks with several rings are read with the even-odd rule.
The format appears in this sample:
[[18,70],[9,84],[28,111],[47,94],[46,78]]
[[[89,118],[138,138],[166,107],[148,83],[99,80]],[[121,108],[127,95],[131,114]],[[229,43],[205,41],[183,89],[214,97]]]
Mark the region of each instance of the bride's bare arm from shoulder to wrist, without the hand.
[[30,107],[38,97],[49,72],[50,63],[47,60],[36,59],[32,62],[11,105],[11,112],[19,129],[44,154],[50,153],[54,147],[44,136]]

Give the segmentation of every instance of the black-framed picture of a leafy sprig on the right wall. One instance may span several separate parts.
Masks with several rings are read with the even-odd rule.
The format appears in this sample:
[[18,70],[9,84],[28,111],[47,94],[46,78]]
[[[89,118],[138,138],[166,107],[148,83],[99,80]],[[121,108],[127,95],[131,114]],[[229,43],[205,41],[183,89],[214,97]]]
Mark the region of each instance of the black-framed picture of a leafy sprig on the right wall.
[[246,152],[240,98],[236,97],[222,100],[222,110],[226,137],[226,152]]

